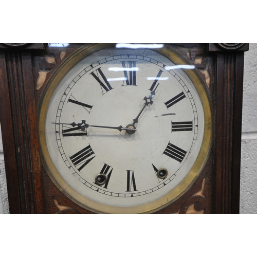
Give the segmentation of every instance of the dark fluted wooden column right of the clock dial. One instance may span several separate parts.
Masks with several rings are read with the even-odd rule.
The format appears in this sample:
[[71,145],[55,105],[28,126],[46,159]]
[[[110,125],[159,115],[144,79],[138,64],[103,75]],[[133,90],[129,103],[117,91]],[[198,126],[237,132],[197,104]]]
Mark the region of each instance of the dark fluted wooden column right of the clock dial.
[[209,48],[216,54],[214,212],[239,213],[244,51],[249,45],[210,44]]

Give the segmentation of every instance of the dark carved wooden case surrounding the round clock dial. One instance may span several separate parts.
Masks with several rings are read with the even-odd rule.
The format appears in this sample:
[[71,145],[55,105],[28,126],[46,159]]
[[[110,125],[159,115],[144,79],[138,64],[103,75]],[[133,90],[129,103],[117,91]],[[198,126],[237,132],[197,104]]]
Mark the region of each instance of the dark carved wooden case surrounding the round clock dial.
[[[0,120],[10,213],[92,213],[66,197],[47,175],[38,126],[48,80],[85,45],[0,45]],[[244,51],[249,46],[168,45],[195,66],[206,84],[212,106],[212,148],[193,185],[156,213],[238,213]]]

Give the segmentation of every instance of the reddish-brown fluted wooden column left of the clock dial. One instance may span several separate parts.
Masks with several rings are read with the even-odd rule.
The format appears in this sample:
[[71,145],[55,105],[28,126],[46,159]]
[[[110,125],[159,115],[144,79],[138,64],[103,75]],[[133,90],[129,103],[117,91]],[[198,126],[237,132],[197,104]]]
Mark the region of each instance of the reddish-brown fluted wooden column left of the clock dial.
[[10,213],[44,213],[31,62],[31,51],[38,48],[0,48],[0,121]]

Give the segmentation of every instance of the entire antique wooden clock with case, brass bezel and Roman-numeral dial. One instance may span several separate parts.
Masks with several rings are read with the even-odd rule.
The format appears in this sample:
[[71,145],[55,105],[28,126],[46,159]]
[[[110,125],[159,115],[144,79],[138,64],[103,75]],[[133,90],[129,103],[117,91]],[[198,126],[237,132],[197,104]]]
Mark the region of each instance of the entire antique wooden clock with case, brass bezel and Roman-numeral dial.
[[3,45],[11,212],[237,212],[247,44],[59,46]]

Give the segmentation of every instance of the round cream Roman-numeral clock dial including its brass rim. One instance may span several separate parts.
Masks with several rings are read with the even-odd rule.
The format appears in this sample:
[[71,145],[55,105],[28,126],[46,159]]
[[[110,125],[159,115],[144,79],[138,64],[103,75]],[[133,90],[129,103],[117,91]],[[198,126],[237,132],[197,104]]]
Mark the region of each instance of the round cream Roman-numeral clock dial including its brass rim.
[[203,169],[211,112],[194,66],[170,48],[90,45],[49,80],[40,114],[46,170],[95,212],[143,213],[177,199]]

